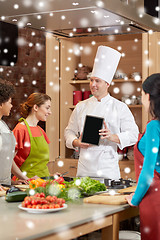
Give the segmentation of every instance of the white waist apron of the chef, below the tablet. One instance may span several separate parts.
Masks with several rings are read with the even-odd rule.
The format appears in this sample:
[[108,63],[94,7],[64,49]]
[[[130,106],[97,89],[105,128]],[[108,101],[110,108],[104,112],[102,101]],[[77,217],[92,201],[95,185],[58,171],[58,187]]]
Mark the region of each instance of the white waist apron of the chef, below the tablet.
[[120,171],[117,153],[111,146],[89,147],[80,150],[77,176],[118,180]]

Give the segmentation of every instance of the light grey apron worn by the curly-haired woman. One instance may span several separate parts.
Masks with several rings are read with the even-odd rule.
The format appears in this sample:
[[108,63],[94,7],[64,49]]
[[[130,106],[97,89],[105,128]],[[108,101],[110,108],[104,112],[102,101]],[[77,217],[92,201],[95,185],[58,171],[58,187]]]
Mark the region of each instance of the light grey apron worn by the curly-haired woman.
[[11,168],[15,153],[16,140],[15,137],[8,128],[7,124],[1,120],[4,127],[8,129],[8,132],[1,132],[2,146],[0,149],[0,184],[11,184]]

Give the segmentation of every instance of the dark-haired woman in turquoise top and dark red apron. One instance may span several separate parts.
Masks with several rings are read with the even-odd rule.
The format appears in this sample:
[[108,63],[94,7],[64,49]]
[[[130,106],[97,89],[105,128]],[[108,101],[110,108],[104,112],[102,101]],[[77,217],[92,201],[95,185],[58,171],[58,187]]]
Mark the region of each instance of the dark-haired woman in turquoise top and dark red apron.
[[142,240],[160,239],[160,73],[142,84],[142,104],[153,119],[134,148],[137,188],[126,197],[140,209]]

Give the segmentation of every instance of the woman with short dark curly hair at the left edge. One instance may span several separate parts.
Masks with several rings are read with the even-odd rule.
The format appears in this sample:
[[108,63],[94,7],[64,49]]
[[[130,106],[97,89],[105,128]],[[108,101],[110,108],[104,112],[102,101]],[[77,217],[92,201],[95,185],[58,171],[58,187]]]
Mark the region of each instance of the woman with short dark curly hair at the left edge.
[[[7,124],[2,120],[3,116],[9,116],[12,108],[12,97],[15,89],[12,83],[0,79],[0,184],[11,184],[11,172],[19,179],[27,180],[13,161],[15,154],[15,138]],[[25,181],[14,182],[19,184]]]

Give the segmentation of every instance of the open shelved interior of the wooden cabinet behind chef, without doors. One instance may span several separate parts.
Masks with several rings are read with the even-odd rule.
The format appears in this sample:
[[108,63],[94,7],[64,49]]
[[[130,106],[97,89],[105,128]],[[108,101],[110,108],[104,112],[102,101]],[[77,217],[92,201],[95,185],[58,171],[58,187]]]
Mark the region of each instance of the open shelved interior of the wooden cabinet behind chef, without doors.
[[[93,44],[94,40],[94,44]],[[110,94],[122,100],[132,96],[140,98],[142,85],[142,34],[117,35],[114,39],[107,36],[60,39],[61,41],[61,88],[60,88],[60,157],[71,158],[73,151],[65,147],[64,129],[74,109],[73,91],[89,90],[89,80],[72,80],[79,64],[92,67],[98,46],[106,45],[122,53],[117,72],[124,73],[125,79],[114,79],[109,87]],[[79,50],[79,52],[78,52]],[[70,61],[68,60],[70,59]],[[134,72],[140,73],[141,79],[133,79]],[[142,131],[142,105],[128,105],[133,113],[140,132]]]

